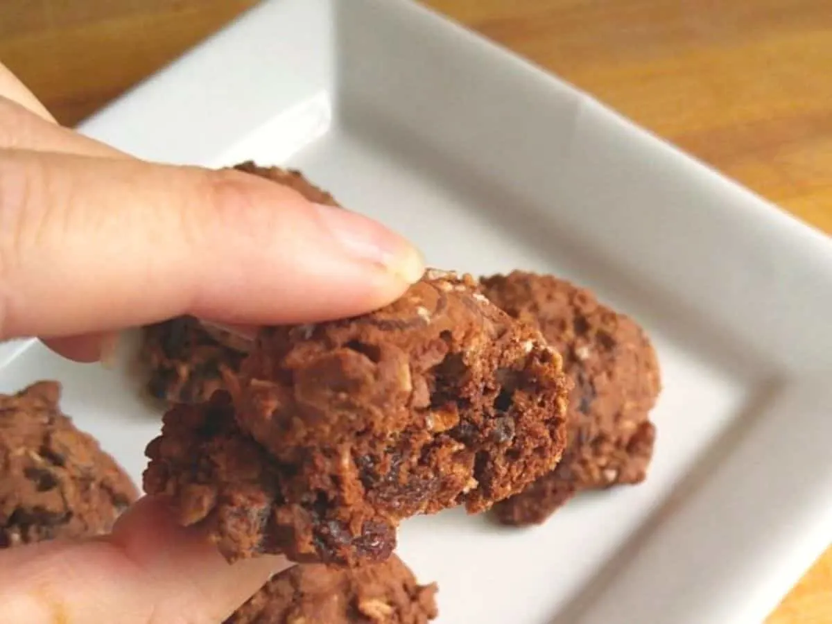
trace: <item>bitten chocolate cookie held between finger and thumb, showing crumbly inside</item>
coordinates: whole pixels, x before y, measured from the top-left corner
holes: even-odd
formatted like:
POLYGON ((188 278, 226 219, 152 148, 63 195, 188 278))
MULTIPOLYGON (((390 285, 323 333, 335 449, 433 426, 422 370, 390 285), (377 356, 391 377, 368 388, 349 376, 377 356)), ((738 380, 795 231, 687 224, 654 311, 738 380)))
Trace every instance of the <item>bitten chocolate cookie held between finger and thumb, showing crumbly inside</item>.
POLYGON ((431 270, 372 314, 262 330, 233 404, 166 415, 146 491, 230 561, 346 565, 387 559, 404 518, 518 493, 560 459, 567 379, 476 287, 431 270))

